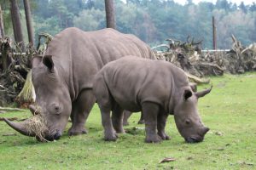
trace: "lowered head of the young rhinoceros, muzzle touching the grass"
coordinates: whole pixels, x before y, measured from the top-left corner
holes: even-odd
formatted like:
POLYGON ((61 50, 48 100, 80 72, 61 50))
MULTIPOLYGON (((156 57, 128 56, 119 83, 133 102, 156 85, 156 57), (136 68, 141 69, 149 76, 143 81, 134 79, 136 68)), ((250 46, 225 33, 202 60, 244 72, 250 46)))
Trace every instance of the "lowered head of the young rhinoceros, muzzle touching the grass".
POLYGON ((209 131, 209 128, 205 127, 201 121, 201 116, 197 110, 197 101, 199 98, 209 94, 211 89, 195 93, 189 87, 183 89, 183 95, 174 108, 177 130, 186 142, 201 142, 209 131))

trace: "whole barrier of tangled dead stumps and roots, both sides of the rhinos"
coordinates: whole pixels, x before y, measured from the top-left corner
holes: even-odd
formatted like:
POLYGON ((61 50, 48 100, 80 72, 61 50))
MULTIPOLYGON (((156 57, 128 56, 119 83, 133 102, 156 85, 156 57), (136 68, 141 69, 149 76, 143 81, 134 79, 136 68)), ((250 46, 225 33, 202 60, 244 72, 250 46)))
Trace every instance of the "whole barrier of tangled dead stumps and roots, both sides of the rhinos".
MULTIPOLYGON (((25 53, 22 53, 19 44, 12 45, 8 37, 0 39, 0 106, 14 101, 21 106, 33 102, 35 96, 30 74, 32 55, 44 54, 51 39, 49 34, 40 34, 37 49, 29 44, 25 53)), ((209 80, 202 77, 256 70, 256 43, 243 47, 236 37, 232 36, 232 40, 233 46, 229 50, 201 50, 202 41, 195 42, 190 37, 186 42, 168 39, 167 44, 153 49, 158 59, 182 68, 190 82, 207 83, 209 80)))

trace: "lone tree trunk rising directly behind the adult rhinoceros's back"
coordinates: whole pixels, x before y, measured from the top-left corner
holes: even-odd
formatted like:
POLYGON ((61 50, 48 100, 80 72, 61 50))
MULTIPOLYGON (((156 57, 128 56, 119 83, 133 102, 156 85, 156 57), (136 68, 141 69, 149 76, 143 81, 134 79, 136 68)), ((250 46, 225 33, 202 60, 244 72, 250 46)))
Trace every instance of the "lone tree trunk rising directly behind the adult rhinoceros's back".
POLYGON ((115 29, 113 0, 105 0, 107 28, 115 29))

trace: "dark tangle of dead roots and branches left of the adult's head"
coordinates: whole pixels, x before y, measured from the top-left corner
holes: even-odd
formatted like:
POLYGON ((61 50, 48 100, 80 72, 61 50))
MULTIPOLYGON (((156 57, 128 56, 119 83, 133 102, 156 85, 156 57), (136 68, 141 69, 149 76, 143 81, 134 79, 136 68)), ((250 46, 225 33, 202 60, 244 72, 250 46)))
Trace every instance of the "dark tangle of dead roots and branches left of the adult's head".
POLYGON ((0 105, 14 102, 30 70, 31 46, 22 53, 19 44, 12 45, 9 37, 0 39, 0 105))

